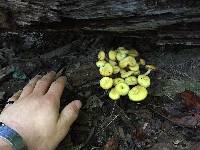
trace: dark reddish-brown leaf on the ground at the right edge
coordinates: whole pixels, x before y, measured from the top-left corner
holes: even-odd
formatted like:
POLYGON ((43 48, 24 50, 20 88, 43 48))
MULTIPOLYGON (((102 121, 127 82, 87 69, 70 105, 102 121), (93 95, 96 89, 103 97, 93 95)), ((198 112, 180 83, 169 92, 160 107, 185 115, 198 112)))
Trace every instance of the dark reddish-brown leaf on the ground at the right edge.
POLYGON ((200 98, 192 91, 184 91, 180 94, 182 102, 189 108, 200 110, 200 98))

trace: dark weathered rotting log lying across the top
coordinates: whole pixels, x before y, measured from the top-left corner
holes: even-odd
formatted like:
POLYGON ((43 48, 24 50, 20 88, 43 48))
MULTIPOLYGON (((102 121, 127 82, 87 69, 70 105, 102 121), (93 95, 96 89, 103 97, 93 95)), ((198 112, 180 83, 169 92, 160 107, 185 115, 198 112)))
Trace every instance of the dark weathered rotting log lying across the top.
POLYGON ((1 0, 0 28, 109 32, 157 45, 200 45, 200 1, 1 0))

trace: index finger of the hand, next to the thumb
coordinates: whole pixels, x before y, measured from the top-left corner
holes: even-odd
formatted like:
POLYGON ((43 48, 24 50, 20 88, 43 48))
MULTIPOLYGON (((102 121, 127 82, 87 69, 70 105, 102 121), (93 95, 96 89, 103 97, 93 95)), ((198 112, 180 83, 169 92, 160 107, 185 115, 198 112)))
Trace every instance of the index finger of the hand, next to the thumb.
POLYGON ((65 88, 67 78, 65 76, 59 77, 56 81, 54 81, 48 92, 47 95, 54 95, 57 100, 60 100, 63 90, 65 88))

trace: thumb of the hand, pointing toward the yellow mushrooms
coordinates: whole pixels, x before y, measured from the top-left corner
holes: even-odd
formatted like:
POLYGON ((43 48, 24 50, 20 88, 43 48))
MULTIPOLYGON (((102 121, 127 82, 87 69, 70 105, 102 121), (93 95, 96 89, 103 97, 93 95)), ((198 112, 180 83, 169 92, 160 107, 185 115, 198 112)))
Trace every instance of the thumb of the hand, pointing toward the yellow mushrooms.
POLYGON ((62 139, 68 133, 70 126, 77 119, 82 104, 79 100, 69 103, 60 113, 57 124, 58 138, 62 139))

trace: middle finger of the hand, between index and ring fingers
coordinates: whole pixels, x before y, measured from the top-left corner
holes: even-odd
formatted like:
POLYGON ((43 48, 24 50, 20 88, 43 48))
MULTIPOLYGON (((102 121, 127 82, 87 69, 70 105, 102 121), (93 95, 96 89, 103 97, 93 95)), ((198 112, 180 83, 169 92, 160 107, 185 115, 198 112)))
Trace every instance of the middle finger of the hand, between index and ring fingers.
POLYGON ((41 79, 39 79, 35 85, 33 94, 44 95, 49 89, 49 86, 51 85, 53 80, 55 79, 55 75, 56 73, 54 71, 51 71, 43 76, 41 79))

